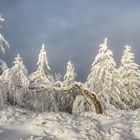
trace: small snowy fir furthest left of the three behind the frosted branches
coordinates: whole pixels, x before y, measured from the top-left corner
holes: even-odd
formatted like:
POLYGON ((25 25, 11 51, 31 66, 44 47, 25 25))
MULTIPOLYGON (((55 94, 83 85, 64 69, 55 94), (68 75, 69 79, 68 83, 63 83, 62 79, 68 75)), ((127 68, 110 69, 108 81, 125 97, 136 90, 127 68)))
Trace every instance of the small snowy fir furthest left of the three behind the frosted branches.
POLYGON ((14 58, 13 64, 12 68, 5 70, 0 76, 0 83, 11 104, 23 105, 29 86, 28 72, 19 54, 14 58))

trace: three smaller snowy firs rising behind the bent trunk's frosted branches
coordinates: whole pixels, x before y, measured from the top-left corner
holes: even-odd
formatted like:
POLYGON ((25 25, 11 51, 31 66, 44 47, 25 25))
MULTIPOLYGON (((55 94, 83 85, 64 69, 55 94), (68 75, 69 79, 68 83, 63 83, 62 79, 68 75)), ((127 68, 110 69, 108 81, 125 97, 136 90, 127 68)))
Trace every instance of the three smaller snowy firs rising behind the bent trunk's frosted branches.
MULTIPOLYGON (((6 64, 5 64, 6 65, 6 64)), ((29 86, 53 86, 54 84, 59 83, 59 86, 67 87, 72 85, 75 79, 74 64, 71 61, 67 63, 67 71, 64 76, 63 83, 60 82, 61 75, 55 74, 52 76, 49 73, 50 66, 48 65, 48 58, 45 51, 45 45, 42 45, 42 48, 39 53, 37 70, 30 75, 26 69, 22 58, 18 54, 13 61, 13 66, 11 68, 4 69, 2 75, 0 76, 0 81, 11 86, 18 86, 27 89, 29 86)))

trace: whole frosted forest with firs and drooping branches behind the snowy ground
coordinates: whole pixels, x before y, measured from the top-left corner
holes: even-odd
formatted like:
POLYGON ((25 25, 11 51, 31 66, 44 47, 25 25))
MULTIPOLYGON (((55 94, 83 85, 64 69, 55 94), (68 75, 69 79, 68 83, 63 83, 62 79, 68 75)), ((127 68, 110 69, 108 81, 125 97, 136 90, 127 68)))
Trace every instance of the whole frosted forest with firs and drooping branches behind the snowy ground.
MULTIPOLYGON (((3 21, 4 18, 0 15, 0 22, 3 21)), ((5 53, 6 47, 9 48, 9 44, 0 34, 0 51, 5 53)), ((81 91, 72 88, 77 83, 74 63, 68 61, 64 77, 60 74, 51 75, 45 44, 38 56, 37 69, 31 74, 19 54, 14 58, 11 68, 8 68, 4 60, 0 62, 1 108, 8 103, 37 111, 72 112, 73 104, 76 104, 74 102, 79 100, 77 96, 81 91)), ((87 81, 78 84, 88 89, 101 103, 128 110, 140 107, 139 81, 140 69, 135 63, 131 46, 125 46, 121 65, 117 68, 105 38, 99 45, 87 81)))

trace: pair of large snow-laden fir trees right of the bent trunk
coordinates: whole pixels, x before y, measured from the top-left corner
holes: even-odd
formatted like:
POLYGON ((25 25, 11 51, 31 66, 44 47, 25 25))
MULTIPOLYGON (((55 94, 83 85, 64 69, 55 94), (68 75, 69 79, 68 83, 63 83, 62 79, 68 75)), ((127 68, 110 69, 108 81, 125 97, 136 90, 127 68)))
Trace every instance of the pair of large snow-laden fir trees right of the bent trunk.
POLYGON ((121 65, 116 67, 107 39, 99 46, 99 53, 92 64, 86 86, 100 100, 122 109, 140 107, 140 69, 135 63, 131 46, 125 46, 121 65))

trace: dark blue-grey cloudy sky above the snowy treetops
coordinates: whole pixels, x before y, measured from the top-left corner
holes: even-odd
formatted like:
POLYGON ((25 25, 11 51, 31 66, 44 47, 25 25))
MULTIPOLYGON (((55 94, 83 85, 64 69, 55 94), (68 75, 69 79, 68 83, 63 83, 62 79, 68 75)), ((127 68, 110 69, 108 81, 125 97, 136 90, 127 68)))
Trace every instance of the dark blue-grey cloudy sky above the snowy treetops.
POLYGON ((85 81, 105 37, 118 64, 126 44, 140 64, 139 0, 0 0, 0 13, 6 18, 1 32, 11 46, 1 58, 9 66, 20 53, 29 72, 35 71, 47 43, 52 73, 64 74, 71 59, 77 80, 85 81))

